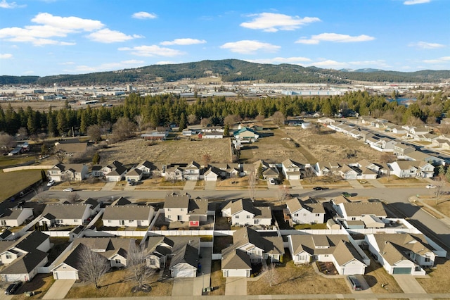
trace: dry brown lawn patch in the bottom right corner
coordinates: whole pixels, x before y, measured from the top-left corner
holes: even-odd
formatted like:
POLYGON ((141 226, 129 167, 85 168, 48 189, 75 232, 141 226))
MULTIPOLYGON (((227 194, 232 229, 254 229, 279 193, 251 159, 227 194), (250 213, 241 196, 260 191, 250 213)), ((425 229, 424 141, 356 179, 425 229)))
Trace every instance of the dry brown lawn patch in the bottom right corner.
POLYGON ((446 258, 436 258, 437 268, 430 270, 430 278, 417 278, 417 281, 427 293, 448 293, 450 287, 450 261, 446 258))

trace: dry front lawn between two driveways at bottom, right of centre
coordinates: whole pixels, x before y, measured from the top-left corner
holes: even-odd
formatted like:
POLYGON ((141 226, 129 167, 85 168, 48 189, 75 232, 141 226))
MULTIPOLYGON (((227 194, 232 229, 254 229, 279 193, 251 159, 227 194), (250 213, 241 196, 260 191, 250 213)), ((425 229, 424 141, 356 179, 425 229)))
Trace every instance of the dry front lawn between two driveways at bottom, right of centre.
POLYGON ((344 278, 325 278, 315 273, 311 265, 294 265, 289 255, 285 263, 276 267, 276 280, 269 286, 264 274, 258 280, 247 282, 249 295, 264 294, 348 294, 344 278))

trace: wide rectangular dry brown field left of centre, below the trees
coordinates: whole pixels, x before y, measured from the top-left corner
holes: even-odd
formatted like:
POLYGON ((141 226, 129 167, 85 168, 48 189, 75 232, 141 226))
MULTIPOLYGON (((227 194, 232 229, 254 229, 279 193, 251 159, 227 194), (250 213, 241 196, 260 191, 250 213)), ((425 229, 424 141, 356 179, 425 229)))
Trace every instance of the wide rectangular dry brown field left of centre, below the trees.
POLYGON ((138 164, 142 161, 152 163, 188 163, 189 161, 202 162, 204 154, 210 154, 210 163, 231 162, 230 139, 199 139, 199 140, 168 140, 150 142, 136 137, 128 141, 110 144, 108 148, 100 151, 101 163, 110 163, 114 160, 125 165, 138 164))

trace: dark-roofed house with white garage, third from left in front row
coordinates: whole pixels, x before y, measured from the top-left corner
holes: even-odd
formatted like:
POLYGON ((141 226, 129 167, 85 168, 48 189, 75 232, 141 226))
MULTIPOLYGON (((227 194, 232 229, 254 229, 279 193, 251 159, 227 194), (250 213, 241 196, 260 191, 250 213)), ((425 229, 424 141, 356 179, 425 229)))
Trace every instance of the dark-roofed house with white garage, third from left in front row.
POLYGON ((151 267, 167 267, 172 277, 197 276, 200 237, 148 237, 144 245, 151 267))

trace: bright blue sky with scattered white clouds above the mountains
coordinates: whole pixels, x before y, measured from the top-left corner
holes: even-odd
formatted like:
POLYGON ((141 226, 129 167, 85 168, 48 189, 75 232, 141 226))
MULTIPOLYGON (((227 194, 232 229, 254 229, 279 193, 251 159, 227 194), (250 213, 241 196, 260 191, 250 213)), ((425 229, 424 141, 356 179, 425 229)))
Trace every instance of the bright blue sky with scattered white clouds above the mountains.
POLYGON ((0 0, 0 75, 236 58, 450 70, 449 0, 0 0))

